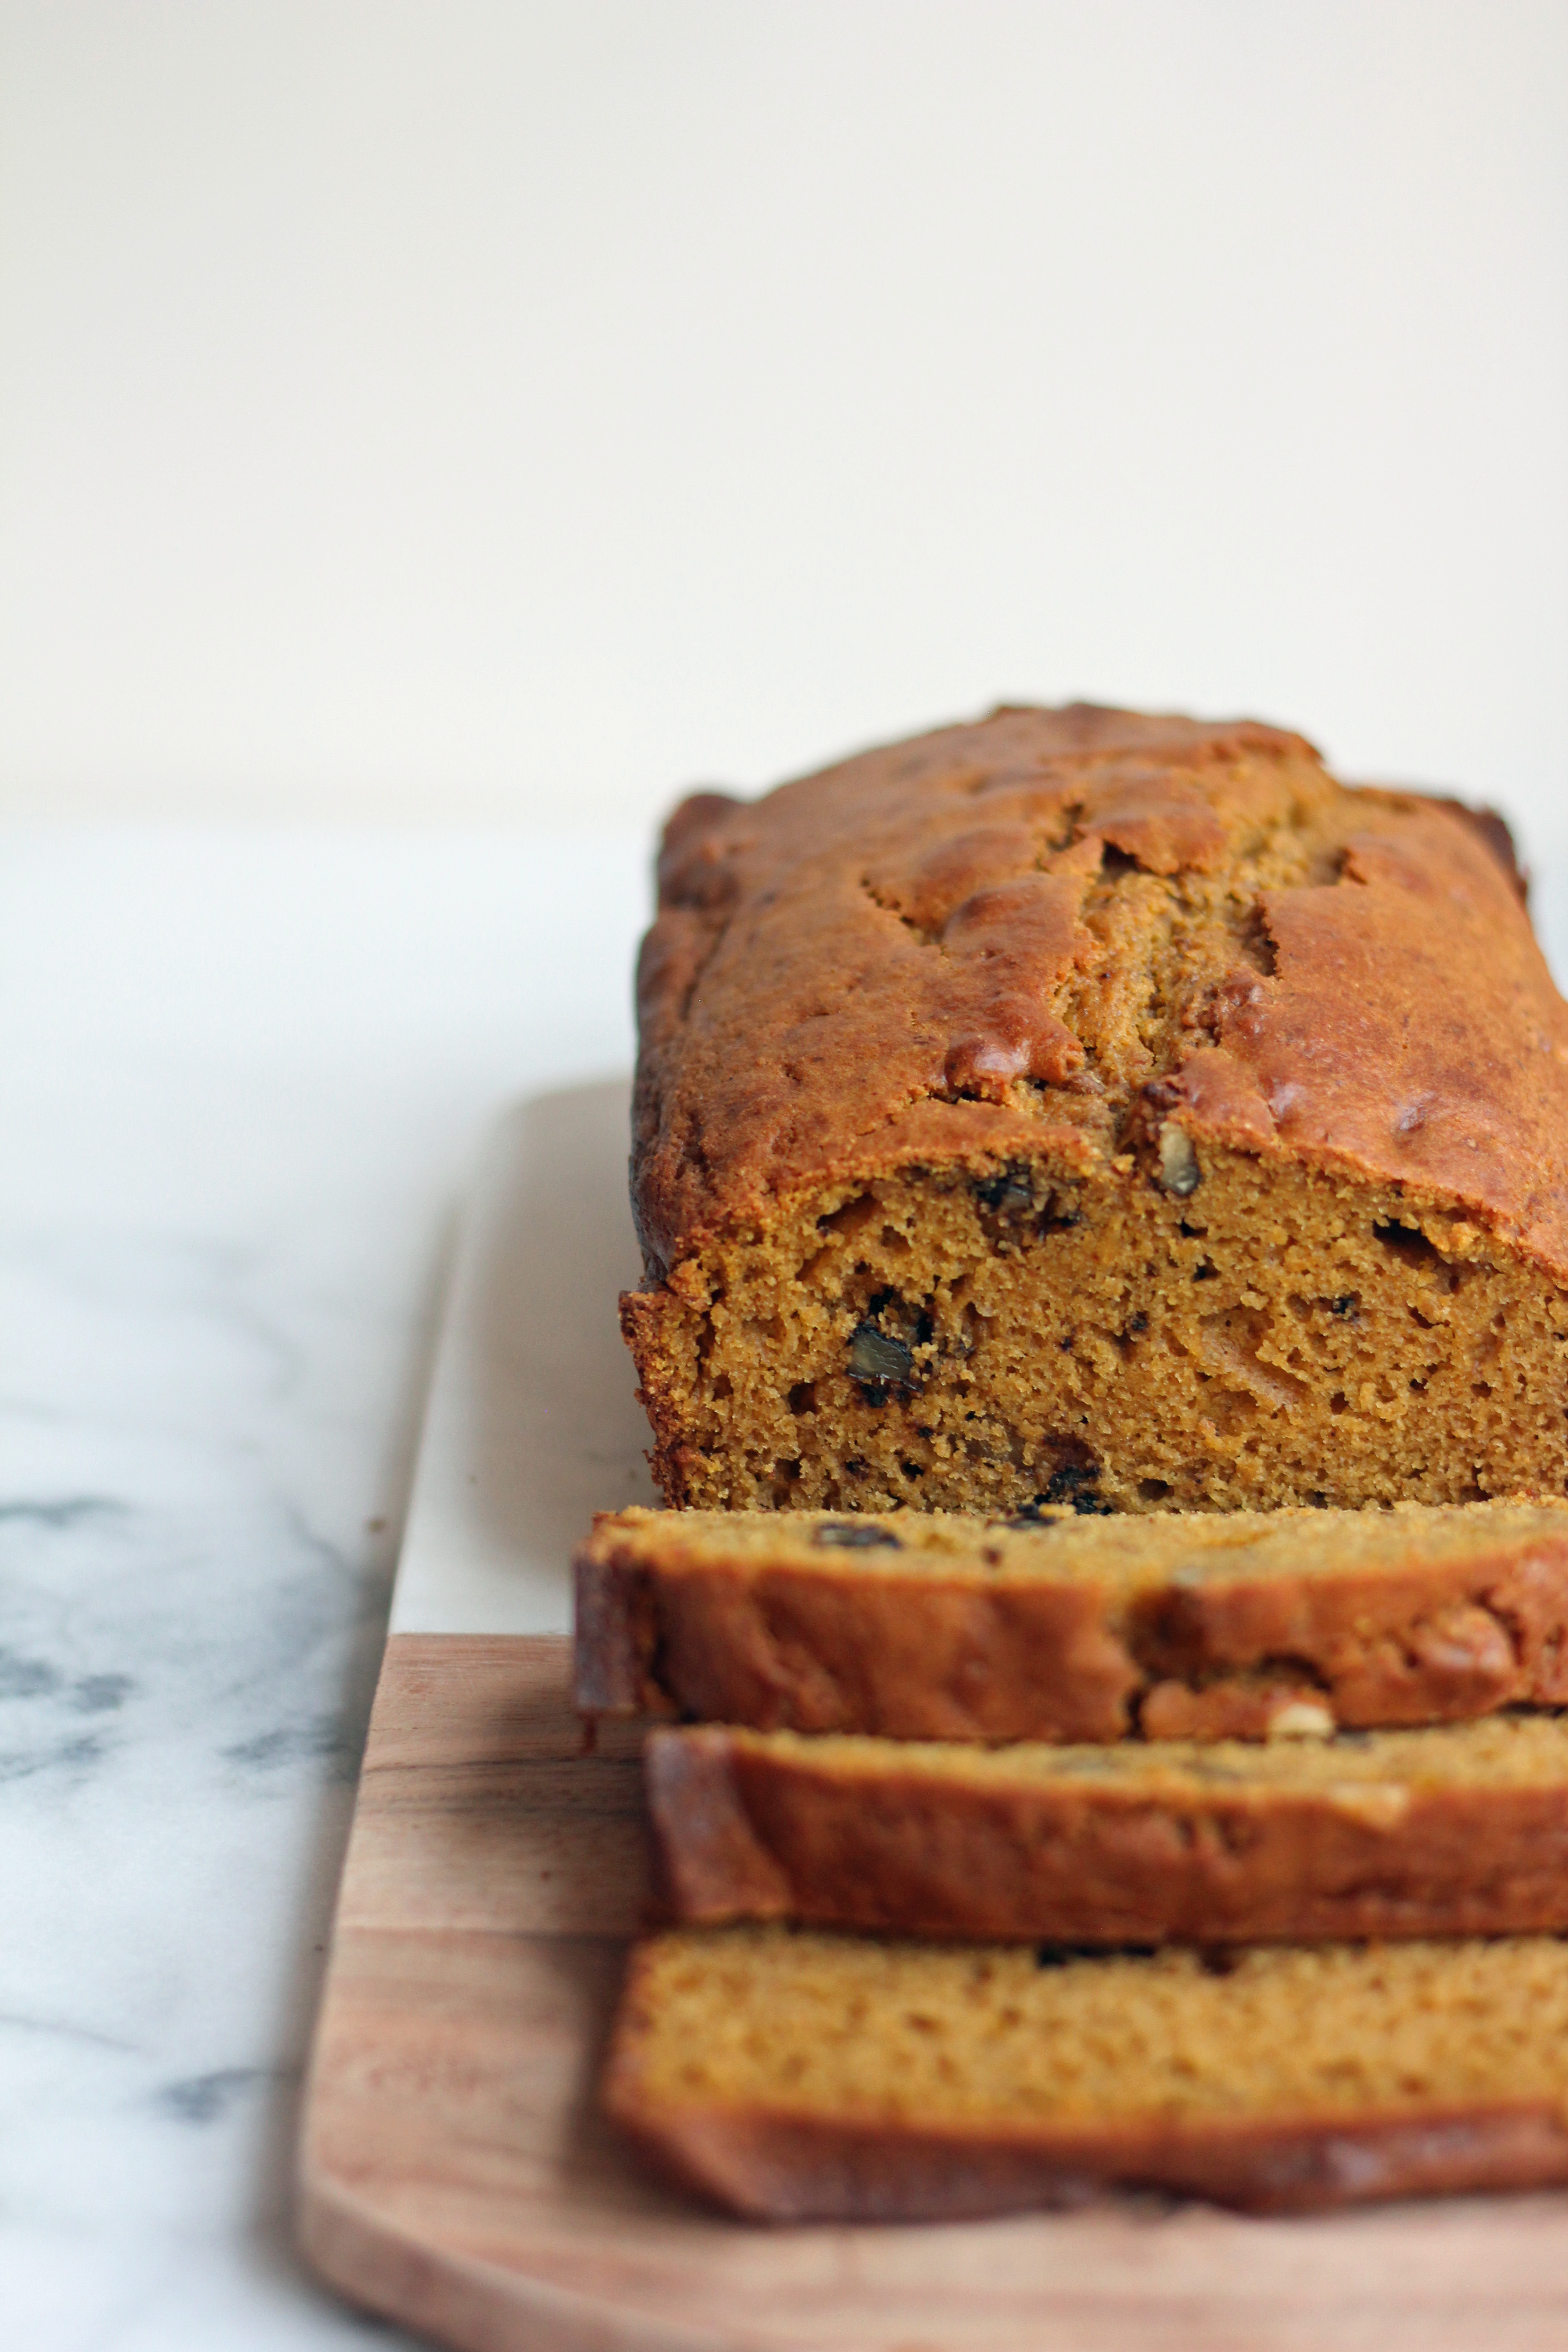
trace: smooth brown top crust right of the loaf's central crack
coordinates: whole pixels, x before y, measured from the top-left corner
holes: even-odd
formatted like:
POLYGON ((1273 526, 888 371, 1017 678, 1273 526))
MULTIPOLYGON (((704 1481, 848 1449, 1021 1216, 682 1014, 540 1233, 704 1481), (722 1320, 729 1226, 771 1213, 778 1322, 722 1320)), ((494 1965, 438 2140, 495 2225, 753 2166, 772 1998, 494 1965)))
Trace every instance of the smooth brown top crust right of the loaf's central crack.
POLYGON ((1269 891, 1276 969, 1154 1082, 1194 1138, 1446 1197, 1568 1272, 1568 1030, 1521 901, 1443 802, 1366 795, 1338 887, 1269 891))

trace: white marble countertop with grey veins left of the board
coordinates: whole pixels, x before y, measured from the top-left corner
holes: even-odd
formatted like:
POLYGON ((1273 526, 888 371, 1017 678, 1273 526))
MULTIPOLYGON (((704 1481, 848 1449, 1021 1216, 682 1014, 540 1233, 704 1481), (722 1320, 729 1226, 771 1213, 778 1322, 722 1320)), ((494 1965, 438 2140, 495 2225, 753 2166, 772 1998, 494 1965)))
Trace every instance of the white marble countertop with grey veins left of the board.
POLYGON ((301 2067, 454 1207, 630 1061, 646 844, 2 837, 5 2340, 390 2343, 289 2246, 301 2067))

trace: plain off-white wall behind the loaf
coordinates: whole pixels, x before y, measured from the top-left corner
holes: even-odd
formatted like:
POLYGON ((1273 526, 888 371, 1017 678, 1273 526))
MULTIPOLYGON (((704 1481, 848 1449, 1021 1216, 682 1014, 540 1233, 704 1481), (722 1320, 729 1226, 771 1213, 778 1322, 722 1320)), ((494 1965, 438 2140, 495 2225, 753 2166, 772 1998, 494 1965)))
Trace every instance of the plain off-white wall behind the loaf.
POLYGON ((1561 0, 0 0, 0 336, 14 809, 1088 694, 1559 828, 1561 0))

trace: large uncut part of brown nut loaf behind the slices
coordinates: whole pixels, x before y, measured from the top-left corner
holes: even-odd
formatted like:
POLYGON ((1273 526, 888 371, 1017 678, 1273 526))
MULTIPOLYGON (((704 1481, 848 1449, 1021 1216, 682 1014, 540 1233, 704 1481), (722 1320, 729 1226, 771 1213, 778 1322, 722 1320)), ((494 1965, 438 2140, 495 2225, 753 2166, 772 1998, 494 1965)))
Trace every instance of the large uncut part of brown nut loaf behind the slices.
POLYGON ((999 710, 670 821, 623 1301, 665 1498, 1568 1482, 1568 1009, 1495 818, 999 710))

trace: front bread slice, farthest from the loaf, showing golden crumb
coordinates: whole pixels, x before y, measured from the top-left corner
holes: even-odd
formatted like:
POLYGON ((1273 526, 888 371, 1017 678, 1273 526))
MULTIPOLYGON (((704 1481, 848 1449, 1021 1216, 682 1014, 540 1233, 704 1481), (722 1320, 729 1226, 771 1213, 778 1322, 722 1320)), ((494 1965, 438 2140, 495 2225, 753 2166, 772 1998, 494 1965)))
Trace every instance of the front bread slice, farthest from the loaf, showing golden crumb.
POLYGON ((609 2112, 764 2220, 926 2220, 1140 2183, 1258 2211, 1568 2180, 1549 1936, 1044 1964, 780 1926, 639 1945, 609 2112))

